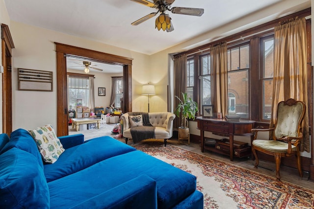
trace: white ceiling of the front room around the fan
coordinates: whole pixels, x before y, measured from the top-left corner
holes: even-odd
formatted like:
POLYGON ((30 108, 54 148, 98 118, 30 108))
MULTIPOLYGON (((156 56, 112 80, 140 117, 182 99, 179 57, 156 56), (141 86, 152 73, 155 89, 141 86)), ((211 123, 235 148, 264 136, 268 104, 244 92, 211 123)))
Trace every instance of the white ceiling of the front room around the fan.
MULTIPOLYGON (((151 0, 153 1, 153 0, 151 0)), ((247 28, 284 15, 288 6, 296 12, 311 0, 176 0, 172 6, 204 8, 201 17, 172 14, 174 31, 155 29, 152 18, 137 26, 131 23, 156 12, 131 0, 4 0, 12 21, 35 25, 145 54, 154 54, 193 37, 265 11, 268 17, 252 20, 247 28), (281 9, 278 4, 285 3, 281 9), (276 11, 272 9, 276 6, 276 11), (263 10, 264 9, 264 10, 263 10)), ((243 26, 243 25, 241 25, 243 26)), ((240 26, 238 27, 240 28, 240 26)), ((235 31, 233 31, 235 32, 235 31)), ((205 39, 204 39, 205 40, 205 39)))

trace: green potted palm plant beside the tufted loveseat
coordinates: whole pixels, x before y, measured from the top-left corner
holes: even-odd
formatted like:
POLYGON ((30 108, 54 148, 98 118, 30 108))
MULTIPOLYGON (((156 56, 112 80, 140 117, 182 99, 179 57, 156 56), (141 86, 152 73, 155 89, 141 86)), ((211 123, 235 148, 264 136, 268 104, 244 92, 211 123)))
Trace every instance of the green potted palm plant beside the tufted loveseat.
POLYGON ((175 114, 181 118, 181 126, 179 127, 179 138, 188 138, 189 128, 187 119, 194 119, 198 111, 197 103, 192 98, 187 97, 187 93, 182 93, 182 100, 179 99, 179 104, 175 110, 175 114))

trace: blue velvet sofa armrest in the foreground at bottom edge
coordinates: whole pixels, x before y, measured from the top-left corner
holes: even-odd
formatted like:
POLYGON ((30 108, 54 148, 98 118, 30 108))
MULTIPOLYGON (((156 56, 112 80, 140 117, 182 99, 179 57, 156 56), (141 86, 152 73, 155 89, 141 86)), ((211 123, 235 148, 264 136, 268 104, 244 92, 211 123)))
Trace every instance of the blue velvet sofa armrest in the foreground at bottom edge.
POLYGON ((157 209, 157 183, 143 174, 71 209, 157 209))

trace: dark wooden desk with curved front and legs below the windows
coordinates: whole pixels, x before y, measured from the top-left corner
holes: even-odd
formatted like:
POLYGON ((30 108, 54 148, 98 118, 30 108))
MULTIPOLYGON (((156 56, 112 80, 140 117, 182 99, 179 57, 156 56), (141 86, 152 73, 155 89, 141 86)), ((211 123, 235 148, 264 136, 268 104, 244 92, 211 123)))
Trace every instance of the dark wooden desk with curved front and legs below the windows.
MULTIPOLYGON (((226 121, 225 119, 196 117, 197 128, 201 131, 201 151, 204 152, 204 132, 212 132, 229 136, 230 140, 230 161, 234 161, 234 136, 251 136, 251 129, 254 126, 253 120, 226 121)), ((251 139, 252 141, 252 139, 251 139)))

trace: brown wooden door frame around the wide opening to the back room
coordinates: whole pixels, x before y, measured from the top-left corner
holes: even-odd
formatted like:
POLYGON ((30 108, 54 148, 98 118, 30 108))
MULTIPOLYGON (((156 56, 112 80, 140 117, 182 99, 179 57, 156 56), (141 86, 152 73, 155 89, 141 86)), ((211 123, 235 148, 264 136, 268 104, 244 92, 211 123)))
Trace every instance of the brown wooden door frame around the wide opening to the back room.
POLYGON ((123 66, 124 110, 132 111, 132 59, 90 49, 54 43, 56 46, 57 74, 57 136, 68 135, 67 66, 66 57, 78 57, 123 66))

